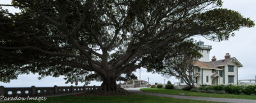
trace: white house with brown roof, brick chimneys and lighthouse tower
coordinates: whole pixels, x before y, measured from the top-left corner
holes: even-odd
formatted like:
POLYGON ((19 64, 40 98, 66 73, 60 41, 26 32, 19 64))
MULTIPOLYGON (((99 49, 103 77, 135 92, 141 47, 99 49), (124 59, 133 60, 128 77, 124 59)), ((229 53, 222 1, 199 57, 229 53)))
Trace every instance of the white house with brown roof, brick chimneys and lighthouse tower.
MULTIPOLYGON (((224 59, 217 60, 213 56, 209 61, 211 45, 204 45, 202 41, 199 41, 198 45, 203 57, 194 64, 193 78, 196 84, 238 84, 237 69, 243 65, 235 57, 231 58, 230 54, 226 53, 224 59)), ((180 85, 186 85, 183 79, 180 79, 180 85)))

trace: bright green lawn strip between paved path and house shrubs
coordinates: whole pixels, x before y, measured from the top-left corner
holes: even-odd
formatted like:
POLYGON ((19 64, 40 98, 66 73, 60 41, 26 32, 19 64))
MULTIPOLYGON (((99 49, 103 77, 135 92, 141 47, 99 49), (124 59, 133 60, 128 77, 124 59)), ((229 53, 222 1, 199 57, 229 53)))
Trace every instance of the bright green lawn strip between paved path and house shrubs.
POLYGON ((152 92, 152 93, 164 93, 171 95, 179 95, 179 93, 184 93, 188 96, 196 97, 216 97, 216 98, 228 98, 228 99, 254 99, 256 100, 256 95, 235 95, 235 94, 220 94, 220 93, 203 93, 203 92, 193 92, 185 90, 168 90, 164 88, 142 88, 141 91, 152 92))

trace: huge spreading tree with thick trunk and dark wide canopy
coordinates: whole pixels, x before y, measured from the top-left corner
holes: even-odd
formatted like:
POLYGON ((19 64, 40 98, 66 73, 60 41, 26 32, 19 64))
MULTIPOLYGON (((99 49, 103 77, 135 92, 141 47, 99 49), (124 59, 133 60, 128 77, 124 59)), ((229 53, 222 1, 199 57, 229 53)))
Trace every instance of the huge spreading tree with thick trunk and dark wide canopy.
POLYGON ((19 74, 64 75, 68 82, 116 79, 160 69, 164 55, 191 36, 226 40, 254 23, 221 0, 13 0, 0 11, 0 81, 19 74), (218 7, 218 8, 216 8, 218 7), (168 49, 168 50, 166 50, 168 49))

